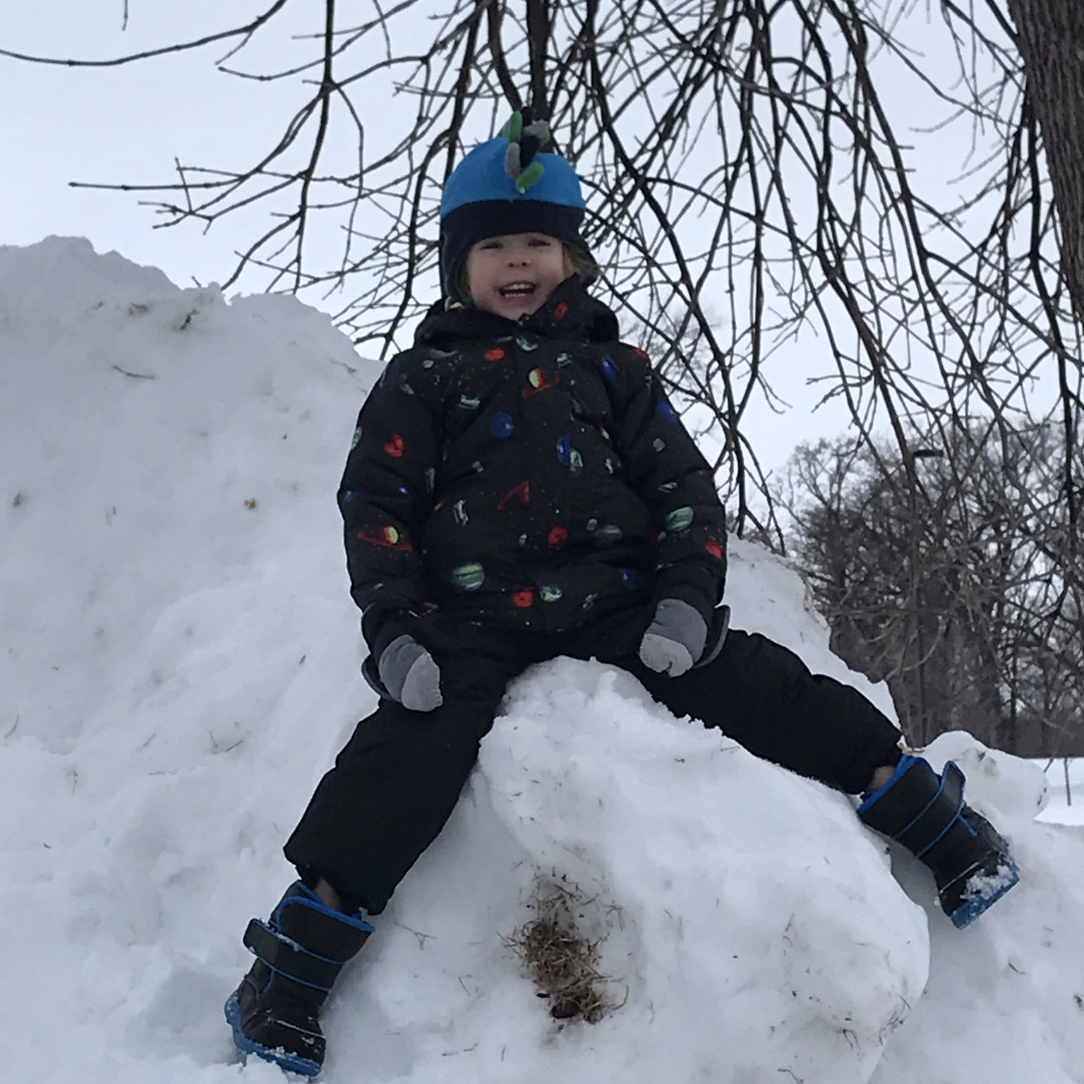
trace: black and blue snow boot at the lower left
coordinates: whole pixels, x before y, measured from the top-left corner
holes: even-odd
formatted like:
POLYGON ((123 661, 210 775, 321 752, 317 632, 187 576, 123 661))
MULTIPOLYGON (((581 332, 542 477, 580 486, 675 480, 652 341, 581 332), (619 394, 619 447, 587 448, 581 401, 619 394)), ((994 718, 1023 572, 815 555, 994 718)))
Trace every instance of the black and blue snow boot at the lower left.
POLYGON ((254 918, 245 930, 257 959, 225 1003, 237 1049, 315 1076, 324 1063, 320 1008, 372 932, 360 915, 328 907, 301 881, 291 885, 271 918, 254 918))

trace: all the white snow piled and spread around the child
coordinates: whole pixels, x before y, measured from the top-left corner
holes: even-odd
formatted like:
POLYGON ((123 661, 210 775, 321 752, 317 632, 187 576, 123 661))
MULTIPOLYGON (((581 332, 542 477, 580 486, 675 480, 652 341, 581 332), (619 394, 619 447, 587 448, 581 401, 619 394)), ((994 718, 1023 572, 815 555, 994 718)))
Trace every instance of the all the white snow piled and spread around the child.
MULTIPOLYGON (((0 248, 5 1079, 282 1081, 234 1058, 221 1003, 372 705, 334 490, 377 372, 291 299, 0 248)), ((891 710, 791 571, 741 543, 732 567, 735 624, 891 710)), ((929 754, 1023 870, 963 931, 848 799, 611 668, 525 675, 328 1006, 324 1079, 1084 1082, 1084 829, 1034 820, 1041 766, 962 734, 929 754), (597 1024, 553 1021, 505 946, 540 879, 578 885, 605 938, 597 1024)))

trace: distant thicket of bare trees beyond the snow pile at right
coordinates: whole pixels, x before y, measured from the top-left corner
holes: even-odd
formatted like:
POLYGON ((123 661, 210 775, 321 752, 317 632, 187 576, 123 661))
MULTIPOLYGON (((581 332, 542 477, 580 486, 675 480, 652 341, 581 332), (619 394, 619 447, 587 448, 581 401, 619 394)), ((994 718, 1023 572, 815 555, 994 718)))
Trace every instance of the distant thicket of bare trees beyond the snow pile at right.
POLYGON ((1079 571, 1048 516, 1056 428, 988 443, 978 460, 912 440, 915 490, 887 446, 888 473, 855 440, 803 446, 791 462, 780 499, 834 649, 888 682, 916 745, 967 730, 1025 756, 1084 754, 1084 640, 1067 602, 1079 571))

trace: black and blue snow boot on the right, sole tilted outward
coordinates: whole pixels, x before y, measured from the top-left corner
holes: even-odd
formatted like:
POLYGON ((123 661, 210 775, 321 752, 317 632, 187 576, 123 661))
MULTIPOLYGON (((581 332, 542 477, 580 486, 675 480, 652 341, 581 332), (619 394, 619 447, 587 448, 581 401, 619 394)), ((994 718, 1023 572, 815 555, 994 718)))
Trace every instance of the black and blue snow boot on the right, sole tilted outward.
POLYGON ((904 756, 885 786, 862 796, 859 816, 933 870, 953 926, 973 921, 1020 880, 1008 843, 964 804, 964 773, 952 761, 939 776, 922 758, 904 756))

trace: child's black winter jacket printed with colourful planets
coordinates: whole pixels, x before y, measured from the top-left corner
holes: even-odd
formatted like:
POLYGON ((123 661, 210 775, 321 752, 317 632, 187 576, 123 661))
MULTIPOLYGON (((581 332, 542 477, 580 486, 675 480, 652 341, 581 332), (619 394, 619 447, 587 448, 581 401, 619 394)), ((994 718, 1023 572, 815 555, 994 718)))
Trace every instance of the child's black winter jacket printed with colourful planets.
POLYGON ((516 322, 434 307, 361 409, 338 501, 375 653, 403 610, 559 632, 676 597, 711 628, 722 597, 711 470, 576 276, 516 322))

